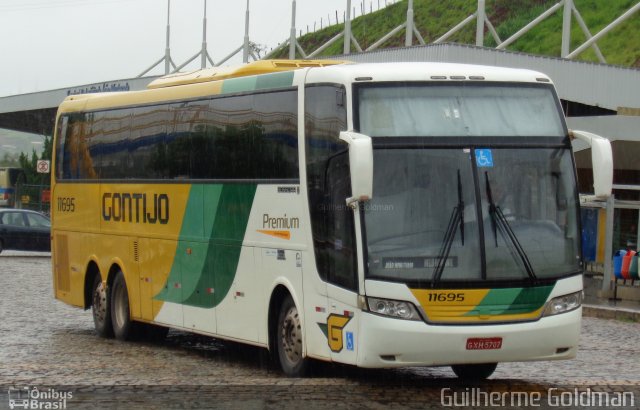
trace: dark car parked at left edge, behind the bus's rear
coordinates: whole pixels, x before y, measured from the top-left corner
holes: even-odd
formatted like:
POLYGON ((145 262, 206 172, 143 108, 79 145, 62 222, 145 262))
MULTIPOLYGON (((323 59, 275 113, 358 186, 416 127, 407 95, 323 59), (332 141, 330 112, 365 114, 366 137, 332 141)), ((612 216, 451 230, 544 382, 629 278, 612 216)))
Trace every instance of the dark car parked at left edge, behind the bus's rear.
POLYGON ((0 209, 0 252, 51 250, 51 221, 25 209, 0 209))

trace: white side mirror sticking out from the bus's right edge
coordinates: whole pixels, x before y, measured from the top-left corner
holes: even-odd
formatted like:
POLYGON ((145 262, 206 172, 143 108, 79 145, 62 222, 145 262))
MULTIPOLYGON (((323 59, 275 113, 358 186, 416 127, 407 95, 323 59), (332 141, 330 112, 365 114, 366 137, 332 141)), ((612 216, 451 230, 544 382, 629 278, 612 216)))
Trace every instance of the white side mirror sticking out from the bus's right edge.
POLYGON ((586 131, 570 130, 569 136, 585 142, 591 147, 593 164, 593 188, 597 198, 611 196, 613 188, 613 153, 611 142, 599 135, 586 131))

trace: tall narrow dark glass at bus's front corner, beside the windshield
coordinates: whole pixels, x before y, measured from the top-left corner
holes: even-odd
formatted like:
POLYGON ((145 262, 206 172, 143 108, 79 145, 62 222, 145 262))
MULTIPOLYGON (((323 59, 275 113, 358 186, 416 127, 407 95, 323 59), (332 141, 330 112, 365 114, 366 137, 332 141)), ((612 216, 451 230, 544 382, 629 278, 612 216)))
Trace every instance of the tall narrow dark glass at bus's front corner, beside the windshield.
POLYGON ((305 137, 311 227, 320 276, 348 289, 357 288, 353 211, 347 145, 338 139, 347 129, 342 87, 307 87, 305 137))

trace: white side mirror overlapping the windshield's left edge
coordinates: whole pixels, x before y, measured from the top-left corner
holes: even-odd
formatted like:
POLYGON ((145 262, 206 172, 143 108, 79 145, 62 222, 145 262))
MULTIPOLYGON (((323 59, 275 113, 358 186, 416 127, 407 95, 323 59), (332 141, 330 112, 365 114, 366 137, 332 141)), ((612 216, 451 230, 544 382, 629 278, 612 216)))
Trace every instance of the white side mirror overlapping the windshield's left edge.
POLYGON ((340 132, 340 139, 349 144, 351 197, 347 205, 367 201, 373 195, 373 142, 371 137, 352 131, 340 132))

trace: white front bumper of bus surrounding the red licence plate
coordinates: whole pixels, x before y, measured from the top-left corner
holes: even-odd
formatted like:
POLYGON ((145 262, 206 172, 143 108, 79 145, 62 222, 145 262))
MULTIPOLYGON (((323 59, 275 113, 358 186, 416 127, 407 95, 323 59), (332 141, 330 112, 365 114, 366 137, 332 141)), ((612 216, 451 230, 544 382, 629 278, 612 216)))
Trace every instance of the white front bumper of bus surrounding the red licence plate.
POLYGON ((357 338, 360 367, 437 366, 574 358, 582 308, 534 322, 429 325, 363 312, 357 338), (501 347, 469 350, 470 338, 501 338, 501 347))

